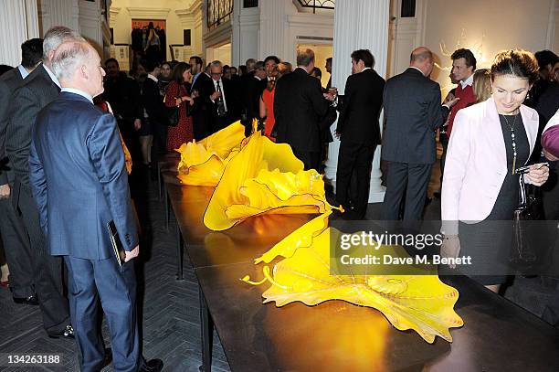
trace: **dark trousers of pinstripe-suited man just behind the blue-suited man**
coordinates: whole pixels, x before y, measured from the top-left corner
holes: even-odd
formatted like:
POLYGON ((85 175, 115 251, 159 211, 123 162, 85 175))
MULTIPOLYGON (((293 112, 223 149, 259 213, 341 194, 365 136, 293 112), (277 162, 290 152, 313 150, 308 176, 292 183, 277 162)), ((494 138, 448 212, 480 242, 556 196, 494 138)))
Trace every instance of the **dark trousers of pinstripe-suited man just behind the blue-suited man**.
POLYGON ((48 254, 37 204, 28 187, 19 186, 17 205, 29 235, 35 291, 43 316, 43 326, 48 334, 59 334, 69 324, 68 300, 63 295, 62 260, 48 254))

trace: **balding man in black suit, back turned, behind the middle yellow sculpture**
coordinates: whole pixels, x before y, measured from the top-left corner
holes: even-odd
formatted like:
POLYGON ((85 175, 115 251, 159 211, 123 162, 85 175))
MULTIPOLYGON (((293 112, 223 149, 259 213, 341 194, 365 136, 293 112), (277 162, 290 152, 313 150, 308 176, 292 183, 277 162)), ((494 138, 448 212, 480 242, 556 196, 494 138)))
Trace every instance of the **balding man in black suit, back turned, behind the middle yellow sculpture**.
POLYGON ((297 69, 276 84, 274 116, 277 143, 289 143, 305 170, 319 171, 321 163, 321 118, 329 103, 322 95, 321 82, 309 75, 314 68, 311 49, 297 51, 297 69))

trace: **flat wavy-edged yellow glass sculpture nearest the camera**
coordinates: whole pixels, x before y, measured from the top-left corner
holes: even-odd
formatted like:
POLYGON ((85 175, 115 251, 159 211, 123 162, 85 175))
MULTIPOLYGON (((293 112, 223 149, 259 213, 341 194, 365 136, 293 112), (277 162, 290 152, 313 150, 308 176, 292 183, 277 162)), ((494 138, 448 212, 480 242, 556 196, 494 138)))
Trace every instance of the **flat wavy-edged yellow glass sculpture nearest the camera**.
MULTIPOLYGON (((311 245, 299 247, 290 258, 277 263, 273 277, 265 266, 261 282, 251 282, 248 276, 242 280, 255 285, 272 284, 262 294, 264 303, 283 306, 301 301, 315 305, 343 300, 374 307, 396 329, 413 329, 428 343, 433 343, 436 335, 452 341, 448 328, 463 324, 453 309, 459 298, 456 289, 440 282, 437 275, 331 275, 331 233, 334 237, 340 233, 332 230, 322 230, 311 245)), ((382 246, 380 250, 382 254, 400 255, 394 246, 382 246)), ((267 260, 270 258, 273 259, 270 255, 267 260)))

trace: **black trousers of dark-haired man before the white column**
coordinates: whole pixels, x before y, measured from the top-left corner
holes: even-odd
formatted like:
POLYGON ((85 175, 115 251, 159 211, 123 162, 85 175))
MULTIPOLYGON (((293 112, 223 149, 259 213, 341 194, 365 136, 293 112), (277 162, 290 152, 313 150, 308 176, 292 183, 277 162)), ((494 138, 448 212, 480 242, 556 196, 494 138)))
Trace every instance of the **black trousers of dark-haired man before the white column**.
POLYGON ((376 145, 371 144, 347 141, 340 143, 336 171, 336 200, 343 207, 349 207, 351 203, 357 218, 364 218, 367 210, 375 148, 376 145), (351 195, 350 192, 352 180, 356 182, 355 195, 351 195))

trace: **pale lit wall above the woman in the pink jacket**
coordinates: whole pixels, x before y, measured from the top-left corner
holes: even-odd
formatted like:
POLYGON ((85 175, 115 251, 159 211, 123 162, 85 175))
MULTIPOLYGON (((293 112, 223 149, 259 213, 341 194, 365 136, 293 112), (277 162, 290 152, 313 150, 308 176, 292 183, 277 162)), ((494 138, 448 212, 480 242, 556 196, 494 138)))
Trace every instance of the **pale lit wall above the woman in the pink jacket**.
MULTIPOLYGON (((534 52, 552 48, 546 46, 546 40, 553 42, 554 38, 547 35, 553 2, 538 0, 536 5, 525 0, 469 0, 466 6, 459 0, 428 0, 424 42, 440 58, 443 68, 452 65, 446 55, 456 48, 471 49, 481 68, 490 67, 501 49, 524 48, 534 52), (446 51, 441 50, 441 44, 446 51)), ((441 87, 448 86, 448 70, 435 69, 433 76, 441 87)))

